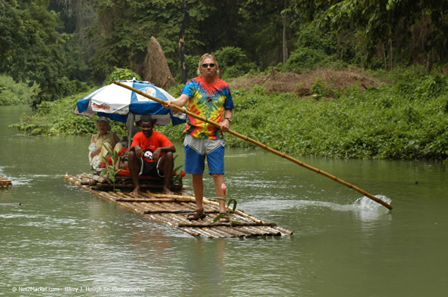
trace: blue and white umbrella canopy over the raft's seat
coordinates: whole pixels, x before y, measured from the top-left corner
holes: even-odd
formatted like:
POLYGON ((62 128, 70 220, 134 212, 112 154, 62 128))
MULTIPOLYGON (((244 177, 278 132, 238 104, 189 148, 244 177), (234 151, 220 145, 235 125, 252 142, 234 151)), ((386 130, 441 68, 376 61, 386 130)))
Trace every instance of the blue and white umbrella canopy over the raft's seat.
MULTIPOLYGON (((167 91, 156 87, 152 83, 138 80, 121 80, 121 83, 165 101, 174 100, 174 97, 167 91)), ((97 113, 99 116, 106 116, 120 122, 126 122, 130 113, 133 115, 154 115, 153 118, 157 119, 157 124, 159 125, 168 124, 170 118, 173 124, 185 122, 181 118, 183 114, 177 113, 173 116, 171 110, 165 109, 159 102, 136 94, 114 83, 101 87, 79 100, 74 113, 88 115, 91 118, 97 113)))

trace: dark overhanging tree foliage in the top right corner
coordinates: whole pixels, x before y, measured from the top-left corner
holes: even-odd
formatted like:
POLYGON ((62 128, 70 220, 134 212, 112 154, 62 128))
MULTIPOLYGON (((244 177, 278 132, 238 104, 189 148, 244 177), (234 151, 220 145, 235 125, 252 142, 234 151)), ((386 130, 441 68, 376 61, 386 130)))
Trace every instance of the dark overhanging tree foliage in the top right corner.
POLYGON ((430 70, 436 60, 446 58, 445 1, 327 2, 331 4, 316 18, 318 24, 338 34, 338 41, 355 45, 363 67, 392 69, 425 61, 430 70))

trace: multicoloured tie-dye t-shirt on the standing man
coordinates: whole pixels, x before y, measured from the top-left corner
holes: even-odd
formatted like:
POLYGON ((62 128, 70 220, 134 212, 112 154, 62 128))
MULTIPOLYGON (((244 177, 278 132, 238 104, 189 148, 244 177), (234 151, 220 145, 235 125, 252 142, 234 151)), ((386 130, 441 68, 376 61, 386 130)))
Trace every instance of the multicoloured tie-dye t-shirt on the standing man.
MULTIPOLYGON (((181 94, 190 97, 188 111, 213 122, 223 121, 224 111, 234 108, 229 84, 220 78, 216 78, 214 83, 207 83, 202 76, 193 78, 183 87, 181 94)), ((219 128, 190 115, 187 116, 184 132, 196 138, 220 139, 223 137, 219 128)))

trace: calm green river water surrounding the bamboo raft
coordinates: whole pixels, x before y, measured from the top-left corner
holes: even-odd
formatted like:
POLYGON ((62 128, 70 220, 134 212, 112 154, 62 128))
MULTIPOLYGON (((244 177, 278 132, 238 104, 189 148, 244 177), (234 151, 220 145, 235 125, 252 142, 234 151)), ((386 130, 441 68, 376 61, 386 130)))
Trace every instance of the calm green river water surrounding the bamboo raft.
MULTIPOLYGON (((24 111, 0 107, 0 175, 13 181, 0 189, 0 296, 448 294, 448 174, 441 162, 298 157, 390 199, 389 212, 271 153, 227 148, 227 196, 294 234, 203 239, 65 181, 65 173, 88 172, 89 137, 8 129, 24 111)), ((176 148, 181 162, 181 144, 176 148)), ((188 175, 184 184, 191 190, 188 175)), ((214 196, 210 177, 205 195, 214 196)))

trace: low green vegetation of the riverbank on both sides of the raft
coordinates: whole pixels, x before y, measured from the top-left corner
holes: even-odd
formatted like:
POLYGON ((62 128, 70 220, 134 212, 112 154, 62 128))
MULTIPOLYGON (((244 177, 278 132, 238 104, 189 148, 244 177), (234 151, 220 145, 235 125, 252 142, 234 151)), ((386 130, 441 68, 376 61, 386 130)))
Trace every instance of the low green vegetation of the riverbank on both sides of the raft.
MULTIPOLYGON (((447 159, 447 75, 401 69, 387 73, 387 83, 374 81, 338 88, 318 77, 307 96, 272 91, 263 84, 250 89, 242 85, 232 89, 236 107, 231 129, 293 155, 447 159)), ((176 96, 179 89, 170 92, 176 96)), ((35 115, 14 126, 32 135, 94 133, 90 118, 73 113, 75 102, 84 95, 43 102, 35 115)), ((181 141, 182 128, 162 126, 159 131, 181 141)), ((113 129, 125 135, 121 123, 113 129)), ((226 137, 226 144, 252 147, 232 136, 226 137)))

